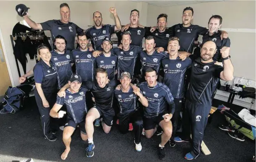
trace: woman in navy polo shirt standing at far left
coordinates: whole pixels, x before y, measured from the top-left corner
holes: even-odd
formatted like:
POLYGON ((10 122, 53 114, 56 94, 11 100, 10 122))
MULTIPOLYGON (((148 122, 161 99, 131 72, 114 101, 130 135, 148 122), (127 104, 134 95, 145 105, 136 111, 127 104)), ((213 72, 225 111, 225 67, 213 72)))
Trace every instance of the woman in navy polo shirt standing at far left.
POLYGON ((56 102, 57 88, 60 86, 60 82, 57 68, 55 64, 50 62, 51 57, 52 55, 47 46, 39 46, 37 49, 37 59, 39 62, 35 65, 33 72, 36 83, 34 93, 41 115, 44 138, 49 141, 55 141, 57 137, 53 133, 55 130, 58 130, 58 126, 56 121, 52 121, 53 118, 50 117, 50 110, 56 102))

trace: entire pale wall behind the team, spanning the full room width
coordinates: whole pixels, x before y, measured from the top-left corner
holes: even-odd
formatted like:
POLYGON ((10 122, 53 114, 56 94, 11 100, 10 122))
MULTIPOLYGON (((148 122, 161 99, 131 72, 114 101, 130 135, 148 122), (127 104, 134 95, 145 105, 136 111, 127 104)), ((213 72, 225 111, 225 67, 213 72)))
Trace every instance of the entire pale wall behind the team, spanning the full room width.
MULTIPOLYGON (((6 48, 7 57, 5 58, 10 63, 15 85, 19 85, 18 71, 9 35, 12 33, 13 26, 23 20, 17 15, 15 6, 19 3, 27 5, 30 8, 30 18, 36 23, 41 23, 50 19, 59 19, 59 5, 64 2, 68 3, 71 8, 71 22, 84 29, 88 28, 88 25, 93 25, 92 13, 96 10, 102 13, 104 24, 115 24, 114 18, 109 12, 110 7, 116 8, 122 25, 130 22, 131 10, 137 9, 140 11, 139 23, 144 26, 155 26, 160 13, 168 15, 168 26, 172 26, 182 22, 183 9, 188 6, 194 9, 193 24, 206 27, 209 18, 213 14, 219 14, 223 18, 222 28, 255 29, 255 1, 224 1, 165 8, 136 1, 97 1, 93 3, 85 1, 0 1, 0 10, 3 13, 0 19, 0 28, 6 48)), ((255 33, 229 32, 229 37, 235 76, 255 80, 255 33)), ((34 62, 30 62, 27 66, 32 67, 33 65, 34 62)), ((21 75, 23 75, 22 69, 21 75)))

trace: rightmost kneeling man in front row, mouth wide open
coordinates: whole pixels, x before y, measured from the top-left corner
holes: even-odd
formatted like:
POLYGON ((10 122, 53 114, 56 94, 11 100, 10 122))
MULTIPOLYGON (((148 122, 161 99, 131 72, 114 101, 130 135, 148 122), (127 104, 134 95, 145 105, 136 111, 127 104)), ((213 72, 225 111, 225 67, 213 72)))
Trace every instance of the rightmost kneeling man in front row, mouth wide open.
POLYGON ((151 67, 145 72, 146 82, 138 85, 142 94, 148 100, 148 106, 144 107, 144 129, 146 138, 151 138, 156 131, 155 126, 158 124, 163 129, 161 135, 161 143, 158 147, 159 159, 165 159, 165 144, 172 136, 172 118, 175 112, 175 104, 173 102, 170 89, 157 82, 157 71, 151 67))

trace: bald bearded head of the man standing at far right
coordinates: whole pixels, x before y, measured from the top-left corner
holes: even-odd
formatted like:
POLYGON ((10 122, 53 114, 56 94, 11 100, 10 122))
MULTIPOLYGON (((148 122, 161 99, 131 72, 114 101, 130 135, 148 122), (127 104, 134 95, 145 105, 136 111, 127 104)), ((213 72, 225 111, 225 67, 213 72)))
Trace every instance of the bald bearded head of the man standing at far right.
POLYGON ((206 41, 201 48, 201 58, 204 61, 212 59, 216 53, 217 46, 214 41, 206 41))

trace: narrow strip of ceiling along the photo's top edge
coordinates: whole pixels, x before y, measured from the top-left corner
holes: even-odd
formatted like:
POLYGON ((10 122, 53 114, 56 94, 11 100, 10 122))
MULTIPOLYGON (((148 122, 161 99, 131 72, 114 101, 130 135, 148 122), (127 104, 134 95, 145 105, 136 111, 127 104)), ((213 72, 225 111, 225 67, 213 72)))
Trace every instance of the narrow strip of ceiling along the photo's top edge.
POLYGON ((155 5, 159 7, 168 7, 175 5, 191 5, 196 3, 207 3, 207 2, 217 2, 224 0, 133 0, 149 3, 149 5, 155 5))

